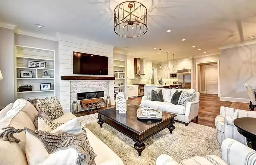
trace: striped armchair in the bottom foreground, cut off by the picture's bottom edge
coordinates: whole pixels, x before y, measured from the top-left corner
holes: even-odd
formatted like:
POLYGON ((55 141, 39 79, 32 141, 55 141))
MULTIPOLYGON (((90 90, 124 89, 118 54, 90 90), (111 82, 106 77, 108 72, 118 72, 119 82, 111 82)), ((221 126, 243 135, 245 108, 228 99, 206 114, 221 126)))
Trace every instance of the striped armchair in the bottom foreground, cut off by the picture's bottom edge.
POLYGON ((221 152, 222 158, 215 155, 196 156, 181 162, 161 154, 156 160, 156 165, 255 165, 256 151, 234 139, 223 140, 221 152))

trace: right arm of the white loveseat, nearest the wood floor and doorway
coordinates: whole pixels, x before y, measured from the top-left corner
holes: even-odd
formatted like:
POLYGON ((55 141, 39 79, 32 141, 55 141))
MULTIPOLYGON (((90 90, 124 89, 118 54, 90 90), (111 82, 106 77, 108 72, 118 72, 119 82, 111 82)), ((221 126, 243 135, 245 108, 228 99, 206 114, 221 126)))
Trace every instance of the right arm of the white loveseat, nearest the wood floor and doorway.
POLYGON ((195 117, 198 116, 198 109, 199 109, 199 100, 187 102, 186 110, 185 110, 186 123, 189 123, 189 121, 193 120, 195 117))

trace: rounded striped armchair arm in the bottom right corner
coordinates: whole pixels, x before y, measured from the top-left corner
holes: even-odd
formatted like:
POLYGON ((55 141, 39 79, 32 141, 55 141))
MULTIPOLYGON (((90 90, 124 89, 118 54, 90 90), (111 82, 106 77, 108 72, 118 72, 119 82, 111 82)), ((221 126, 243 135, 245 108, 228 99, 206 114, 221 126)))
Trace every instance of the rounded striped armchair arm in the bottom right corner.
POLYGON ((255 165, 256 151, 234 139, 225 139, 221 144, 222 159, 229 165, 255 165))

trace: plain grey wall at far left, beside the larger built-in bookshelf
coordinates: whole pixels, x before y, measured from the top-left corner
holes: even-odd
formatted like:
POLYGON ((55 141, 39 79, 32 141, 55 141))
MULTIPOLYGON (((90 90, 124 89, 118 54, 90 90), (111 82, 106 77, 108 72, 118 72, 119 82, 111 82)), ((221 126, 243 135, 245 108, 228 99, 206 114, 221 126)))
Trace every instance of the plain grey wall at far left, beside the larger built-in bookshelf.
POLYGON ((14 102, 14 31, 0 27, 0 109, 14 102))

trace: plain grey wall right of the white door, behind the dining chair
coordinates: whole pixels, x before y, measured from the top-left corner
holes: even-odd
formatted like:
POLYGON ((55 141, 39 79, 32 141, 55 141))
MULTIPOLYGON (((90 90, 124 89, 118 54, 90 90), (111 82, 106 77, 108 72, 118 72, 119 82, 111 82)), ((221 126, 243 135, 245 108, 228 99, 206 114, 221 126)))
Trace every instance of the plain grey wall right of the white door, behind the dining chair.
POLYGON ((220 99, 249 102, 244 83, 256 88, 256 41, 220 50, 220 99))

